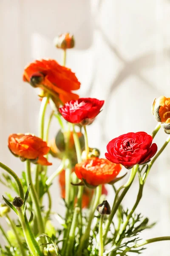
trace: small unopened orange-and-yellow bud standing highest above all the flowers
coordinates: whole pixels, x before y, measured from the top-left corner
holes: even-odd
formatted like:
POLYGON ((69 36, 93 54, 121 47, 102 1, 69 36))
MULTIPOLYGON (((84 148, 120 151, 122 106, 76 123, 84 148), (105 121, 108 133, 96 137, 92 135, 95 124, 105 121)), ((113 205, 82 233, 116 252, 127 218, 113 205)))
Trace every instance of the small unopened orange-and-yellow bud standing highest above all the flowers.
POLYGON ((54 44, 59 49, 71 49, 75 45, 74 36, 69 33, 61 34, 54 39, 54 44))

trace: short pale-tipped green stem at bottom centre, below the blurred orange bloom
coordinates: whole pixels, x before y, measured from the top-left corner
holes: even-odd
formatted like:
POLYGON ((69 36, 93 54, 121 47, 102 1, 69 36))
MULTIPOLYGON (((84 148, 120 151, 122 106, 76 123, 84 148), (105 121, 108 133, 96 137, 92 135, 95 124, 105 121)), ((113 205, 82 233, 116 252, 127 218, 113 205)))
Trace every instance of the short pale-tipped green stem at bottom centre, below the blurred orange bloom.
POLYGON ((71 223, 71 229, 70 229, 70 233, 69 233, 69 239, 68 239, 68 247, 67 247, 67 251, 66 251, 66 256, 70 256, 72 255, 72 250, 73 250, 73 245, 74 245, 74 237, 75 237, 75 230, 77 227, 77 218, 79 215, 79 207, 75 207, 74 209, 74 215, 73 215, 73 220, 71 223))

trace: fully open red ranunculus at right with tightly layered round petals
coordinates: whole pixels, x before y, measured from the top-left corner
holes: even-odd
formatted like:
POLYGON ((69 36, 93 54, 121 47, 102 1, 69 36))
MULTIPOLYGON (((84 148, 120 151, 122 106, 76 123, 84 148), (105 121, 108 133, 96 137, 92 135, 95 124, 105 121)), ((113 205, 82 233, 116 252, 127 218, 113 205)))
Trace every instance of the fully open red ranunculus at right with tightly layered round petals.
POLYGON ((152 144, 152 136, 144 131, 123 134, 107 145, 105 157, 112 163, 120 163, 130 169, 136 164, 147 163, 157 151, 156 143, 152 144))

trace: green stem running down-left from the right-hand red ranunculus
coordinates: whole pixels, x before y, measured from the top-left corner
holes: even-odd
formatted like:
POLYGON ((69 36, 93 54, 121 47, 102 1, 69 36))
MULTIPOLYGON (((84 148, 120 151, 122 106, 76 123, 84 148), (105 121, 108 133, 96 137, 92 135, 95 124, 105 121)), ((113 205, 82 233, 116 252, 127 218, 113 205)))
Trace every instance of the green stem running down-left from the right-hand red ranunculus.
MULTIPOLYGON (((123 198, 125 197, 127 191, 130 189, 130 186, 132 185, 133 183, 133 180, 136 176, 136 172, 139 168, 139 165, 136 165, 132 170, 131 170, 131 173, 130 173, 130 177, 129 177, 129 180, 127 181, 127 183, 124 185, 124 190, 122 192, 122 194, 120 195, 120 197, 118 198, 117 201, 114 201, 113 203, 113 207, 112 207, 112 210, 111 210, 111 214, 109 215, 108 217, 108 220, 106 221, 106 224, 105 224, 105 232, 104 232, 104 236, 103 236, 103 243, 105 244, 105 240, 106 240, 106 237, 107 237, 107 234, 108 234, 108 231, 109 231, 109 228, 110 228, 110 225, 111 225, 111 222, 113 220, 113 217, 117 211, 117 209, 119 208, 119 205, 121 204, 123 198)), ((119 189, 117 190, 117 192, 119 192, 119 189)), ((118 193, 116 192, 116 194, 118 195, 118 193)), ((116 197, 116 196, 115 196, 116 197)))

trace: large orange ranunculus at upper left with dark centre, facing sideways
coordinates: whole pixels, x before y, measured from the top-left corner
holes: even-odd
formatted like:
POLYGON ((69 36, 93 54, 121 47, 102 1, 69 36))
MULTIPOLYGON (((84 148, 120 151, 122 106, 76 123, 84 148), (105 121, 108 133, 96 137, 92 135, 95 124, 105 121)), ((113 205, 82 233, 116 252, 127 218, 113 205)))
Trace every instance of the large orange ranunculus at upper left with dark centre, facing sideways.
POLYGON ((49 93, 54 99, 59 97, 63 104, 71 99, 79 98, 77 94, 72 93, 72 90, 78 90, 80 87, 75 73, 69 68, 59 65, 55 60, 42 59, 32 62, 25 67, 23 80, 33 87, 43 89, 42 96, 49 93))

